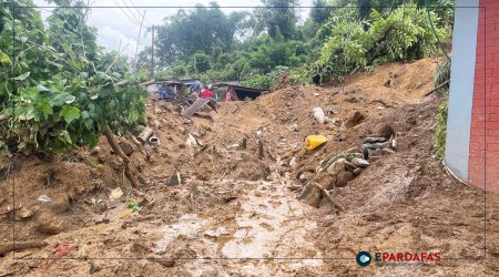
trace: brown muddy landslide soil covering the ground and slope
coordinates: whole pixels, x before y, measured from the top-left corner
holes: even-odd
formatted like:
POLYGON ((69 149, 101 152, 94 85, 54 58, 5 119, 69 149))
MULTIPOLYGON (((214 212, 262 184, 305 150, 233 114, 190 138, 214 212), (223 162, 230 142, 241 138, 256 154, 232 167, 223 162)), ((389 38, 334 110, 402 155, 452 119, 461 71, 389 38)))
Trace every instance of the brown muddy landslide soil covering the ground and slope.
POLYGON ((497 276, 499 196, 451 178, 434 154, 441 100, 424 94, 437 62, 385 64, 345 86, 285 88, 191 119, 152 98, 160 145, 120 138, 140 188, 105 140, 93 151, 3 160, 0 243, 14 232, 18 245, 38 248, 4 250, 0 276, 497 276), (333 122, 317 123, 315 106, 333 122), (310 134, 328 142, 306 151, 310 134), (390 135, 395 153, 328 191, 343 211, 324 193, 314 205, 297 198, 312 181, 330 183, 314 177, 323 161, 390 135), (361 268, 359 250, 438 252, 442 261, 361 268))

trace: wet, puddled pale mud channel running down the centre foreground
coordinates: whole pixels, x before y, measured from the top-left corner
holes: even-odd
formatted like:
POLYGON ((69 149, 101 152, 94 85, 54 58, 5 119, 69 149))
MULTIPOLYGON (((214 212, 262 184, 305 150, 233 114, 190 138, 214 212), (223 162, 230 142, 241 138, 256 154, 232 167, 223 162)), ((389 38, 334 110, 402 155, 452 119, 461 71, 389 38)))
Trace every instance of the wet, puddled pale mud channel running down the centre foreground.
POLYGON ((286 188, 286 179, 273 173, 269 181, 224 181, 247 187, 230 204, 233 216, 216 223, 208 216, 184 214, 157 229, 155 252, 167 255, 189 246, 197 259, 184 264, 184 269, 194 276, 205 268, 200 263, 215 259, 225 260, 224 269, 231 273, 255 276, 320 268, 322 253, 310 237, 316 228, 308 219, 310 207, 286 188))

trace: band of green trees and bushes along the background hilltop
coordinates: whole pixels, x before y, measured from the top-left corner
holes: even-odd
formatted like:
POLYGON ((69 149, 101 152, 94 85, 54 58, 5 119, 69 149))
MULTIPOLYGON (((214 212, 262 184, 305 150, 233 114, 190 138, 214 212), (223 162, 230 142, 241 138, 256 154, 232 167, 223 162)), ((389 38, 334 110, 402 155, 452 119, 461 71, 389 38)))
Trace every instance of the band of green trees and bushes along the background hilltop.
MULTIPOLYGON (((262 0, 253 12, 225 13, 216 3, 179 10, 156 35, 155 78, 245 80, 272 88, 326 81, 388 61, 440 55, 450 37, 454 1, 315 0, 299 22, 297 0, 262 0), (435 25, 435 32, 429 23, 435 25)), ((140 54, 149 71, 151 50, 140 54)))

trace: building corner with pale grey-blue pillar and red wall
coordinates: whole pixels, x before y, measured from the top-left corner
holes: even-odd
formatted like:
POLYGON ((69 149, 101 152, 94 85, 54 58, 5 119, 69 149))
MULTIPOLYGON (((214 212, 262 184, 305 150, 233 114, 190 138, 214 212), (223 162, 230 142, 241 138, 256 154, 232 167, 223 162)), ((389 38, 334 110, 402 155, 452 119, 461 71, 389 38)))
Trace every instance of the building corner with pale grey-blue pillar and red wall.
POLYGON ((445 162, 499 192, 499 1, 457 0, 445 162))

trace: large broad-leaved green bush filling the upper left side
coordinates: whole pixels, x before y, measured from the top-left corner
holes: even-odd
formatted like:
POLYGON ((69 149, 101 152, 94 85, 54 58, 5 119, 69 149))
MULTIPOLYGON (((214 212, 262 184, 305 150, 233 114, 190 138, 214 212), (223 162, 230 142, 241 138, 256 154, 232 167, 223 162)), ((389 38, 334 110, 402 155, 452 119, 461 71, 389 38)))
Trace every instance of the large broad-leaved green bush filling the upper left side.
MULTIPOLYGON (((54 0, 58 6, 84 2, 54 0)), ((138 127, 146 92, 126 59, 104 52, 85 8, 57 8, 45 29, 30 0, 0 3, 0 151, 94 146, 111 129, 138 127)))

